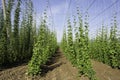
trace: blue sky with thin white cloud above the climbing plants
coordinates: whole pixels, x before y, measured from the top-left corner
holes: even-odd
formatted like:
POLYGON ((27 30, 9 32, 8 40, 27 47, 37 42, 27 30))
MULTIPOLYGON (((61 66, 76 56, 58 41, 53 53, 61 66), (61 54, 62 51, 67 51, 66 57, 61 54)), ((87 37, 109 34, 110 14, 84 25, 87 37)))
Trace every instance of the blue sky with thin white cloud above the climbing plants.
MULTIPOLYGON (((37 24, 40 24, 40 17, 43 14, 43 11, 46 9, 48 0, 32 0, 34 4, 34 10, 36 12, 37 24)), ((49 21, 54 21, 54 26, 57 32, 57 39, 60 42, 62 38, 63 28, 66 24, 66 15, 72 16, 76 15, 76 7, 79 6, 81 13, 83 14, 88 7, 91 7, 88 10, 89 13, 89 36, 94 37, 96 30, 101 27, 101 24, 104 23, 110 28, 110 20, 114 12, 117 12, 117 21, 118 29, 120 30, 120 0, 112 7, 108 8, 111 4, 117 0, 71 0, 70 8, 68 6, 70 0, 49 0, 50 6, 47 8, 48 16, 51 16, 50 8, 52 12, 52 18, 49 17, 49 21), (94 2, 93 2, 94 1, 94 2), (106 9, 108 8, 108 9, 106 9), (102 11, 105 10, 103 13, 102 11), (102 13, 98 15, 99 13, 102 13), (96 17, 96 18, 95 18, 96 17)), ((0 1, 1 6, 1 1, 0 1)))

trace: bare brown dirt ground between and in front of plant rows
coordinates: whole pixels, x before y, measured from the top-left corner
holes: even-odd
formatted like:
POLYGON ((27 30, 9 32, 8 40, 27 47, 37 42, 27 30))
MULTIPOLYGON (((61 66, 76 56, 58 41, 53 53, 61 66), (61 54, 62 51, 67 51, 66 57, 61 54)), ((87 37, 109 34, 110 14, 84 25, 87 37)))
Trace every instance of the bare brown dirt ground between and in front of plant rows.
MULTIPOLYGON (((120 70, 92 60, 99 80, 120 80, 120 70)), ((71 65, 60 50, 43 66, 42 76, 28 77, 27 64, 0 71, 0 80, 89 80, 78 77, 78 70, 71 65)))

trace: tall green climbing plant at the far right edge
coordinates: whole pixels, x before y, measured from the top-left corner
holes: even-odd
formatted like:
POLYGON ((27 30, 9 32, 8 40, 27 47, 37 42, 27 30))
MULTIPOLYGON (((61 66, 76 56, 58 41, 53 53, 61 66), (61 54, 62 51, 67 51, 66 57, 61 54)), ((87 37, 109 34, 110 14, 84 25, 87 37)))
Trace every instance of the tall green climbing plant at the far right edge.
POLYGON ((117 52, 117 50, 119 49, 119 42, 117 39, 117 22, 116 22, 116 16, 114 16, 114 22, 113 22, 113 26, 111 27, 110 30, 110 61, 111 61, 111 66, 113 68, 117 68, 119 67, 118 65, 118 56, 120 54, 120 52, 117 52))

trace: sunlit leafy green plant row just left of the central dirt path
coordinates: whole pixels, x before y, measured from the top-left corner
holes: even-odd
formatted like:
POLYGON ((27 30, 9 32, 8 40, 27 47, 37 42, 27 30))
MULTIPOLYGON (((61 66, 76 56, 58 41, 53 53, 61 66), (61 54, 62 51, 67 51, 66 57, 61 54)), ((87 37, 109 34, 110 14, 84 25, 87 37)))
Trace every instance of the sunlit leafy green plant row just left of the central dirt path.
POLYGON ((40 25, 37 42, 34 45, 33 56, 28 64, 28 74, 40 74, 42 65, 55 53, 56 48, 56 35, 47 27, 46 20, 43 20, 40 25))

